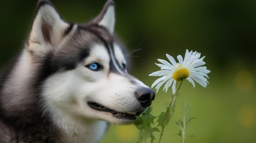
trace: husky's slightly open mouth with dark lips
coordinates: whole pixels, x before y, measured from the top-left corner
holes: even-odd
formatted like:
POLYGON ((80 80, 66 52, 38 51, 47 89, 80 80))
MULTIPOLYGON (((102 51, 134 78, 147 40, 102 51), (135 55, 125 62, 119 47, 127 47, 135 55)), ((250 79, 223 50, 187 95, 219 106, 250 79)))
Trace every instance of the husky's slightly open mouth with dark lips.
POLYGON ((132 120, 132 121, 134 121, 136 119, 135 116, 137 116, 141 113, 141 112, 117 112, 116 110, 110 109, 106 106, 103 106, 103 105, 101 105, 99 103, 95 103, 95 102, 88 102, 88 105, 94 110, 110 112, 116 118, 132 120))

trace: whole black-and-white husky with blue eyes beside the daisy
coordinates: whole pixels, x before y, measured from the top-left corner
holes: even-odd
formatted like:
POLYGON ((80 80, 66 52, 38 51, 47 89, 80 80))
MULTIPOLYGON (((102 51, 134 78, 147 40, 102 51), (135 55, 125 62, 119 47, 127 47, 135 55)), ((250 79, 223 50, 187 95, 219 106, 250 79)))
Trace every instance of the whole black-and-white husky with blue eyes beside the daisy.
POLYGON ((87 24, 65 22, 39 0, 25 48, 0 79, 0 143, 96 143, 129 124, 153 90, 127 73, 109 0, 87 24))

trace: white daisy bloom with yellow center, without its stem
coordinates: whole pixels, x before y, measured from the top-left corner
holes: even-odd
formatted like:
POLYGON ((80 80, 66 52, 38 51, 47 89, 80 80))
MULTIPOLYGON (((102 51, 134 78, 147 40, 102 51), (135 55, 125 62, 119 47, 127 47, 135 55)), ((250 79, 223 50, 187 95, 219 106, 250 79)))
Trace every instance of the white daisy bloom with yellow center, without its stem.
MULTIPOLYGON (((176 88, 176 81, 182 81, 184 79, 189 80, 193 87, 195 87, 195 82, 198 82, 203 87, 206 87, 209 83, 207 81, 208 73, 210 73, 210 70, 207 70, 206 66, 202 66, 205 64, 203 61, 204 57, 201 57, 201 53, 188 51, 186 50, 185 57, 181 55, 177 56, 178 63, 175 61, 175 59, 171 56, 166 54, 166 57, 169 59, 169 62, 167 62, 164 59, 157 59, 162 64, 157 64, 161 68, 161 70, 156 71, 154 73, 151 73, 149 76, 162 76, 159 79, 155 80, 155 82, 152 84, 151 88, 155 86, 155 89, 157 89, 157 92, 159 88, 166 82, 164 85, 165 92, 167 92, 168 87, 172 86, 173 94, 175 92, 176 88), (207 77, 207 78, 206 78, 207 77)), ((163 90, 164 90, 163 89, 163 90)))

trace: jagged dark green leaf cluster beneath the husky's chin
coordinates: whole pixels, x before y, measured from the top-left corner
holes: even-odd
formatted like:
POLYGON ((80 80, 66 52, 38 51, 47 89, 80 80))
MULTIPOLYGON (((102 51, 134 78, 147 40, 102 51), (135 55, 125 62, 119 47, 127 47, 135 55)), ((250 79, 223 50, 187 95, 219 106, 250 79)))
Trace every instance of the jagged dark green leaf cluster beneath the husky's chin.
POLYGON ((154 125, 155 117, 150 114, 152 107, 148 108, 145 113, 137 116, 135 122, 133 123, 136 128, 140 130, 139 132, 139 140, 137 143, 141 143, 148 138, 151 138, 151 143, 155 140, 155 136, 153 132, 160 132, 158 128, 153 128, 151 125, 154 125))

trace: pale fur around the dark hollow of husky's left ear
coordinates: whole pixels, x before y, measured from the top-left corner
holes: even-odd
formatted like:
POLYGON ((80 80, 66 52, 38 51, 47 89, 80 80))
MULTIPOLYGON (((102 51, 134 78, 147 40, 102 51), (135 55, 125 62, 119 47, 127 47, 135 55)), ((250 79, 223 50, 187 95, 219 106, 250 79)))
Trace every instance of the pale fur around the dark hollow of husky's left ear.
POLYGON ((38 10, 29 37, 29 50, 35 53, 46 53, 58 45, 68 24, 64 22, 56 10, 48 4, 38 10), (50 37, 51 43, 47 43, 43 37, 41 27, 43 22, 52 26, 50 37))

